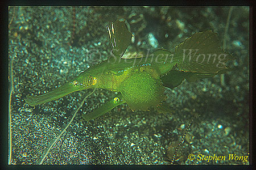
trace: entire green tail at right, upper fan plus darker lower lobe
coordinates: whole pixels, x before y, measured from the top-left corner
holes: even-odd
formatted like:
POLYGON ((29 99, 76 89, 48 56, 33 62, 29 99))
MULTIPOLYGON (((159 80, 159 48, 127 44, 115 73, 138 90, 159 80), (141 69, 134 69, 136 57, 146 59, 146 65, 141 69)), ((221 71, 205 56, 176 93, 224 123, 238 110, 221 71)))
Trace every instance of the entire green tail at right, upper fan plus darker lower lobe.
POLYGON ((217 34, 212 31, 195 33, 175 48, 176 65, 162 76, 164 86, 174 88, 183 79, 189 82, 229 71, 225 63, 235 59, 220 48, 217 34))

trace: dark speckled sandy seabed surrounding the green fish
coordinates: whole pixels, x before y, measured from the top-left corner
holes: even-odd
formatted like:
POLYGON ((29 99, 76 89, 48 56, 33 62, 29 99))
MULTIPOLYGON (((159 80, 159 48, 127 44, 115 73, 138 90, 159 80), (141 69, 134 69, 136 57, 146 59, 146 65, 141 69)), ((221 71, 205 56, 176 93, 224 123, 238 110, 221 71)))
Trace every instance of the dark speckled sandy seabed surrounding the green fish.
POLYGON ((233 70, 166 88, 169 113, 132 112, 122 104, 86 122, 82 113, 115 96, 96 89, 43 164, 170 164, 191 120, 174 164, 249 164, 249 158, 229 160, 229 154, 249 156, 249 7, 93 6, 9 7, 10 164, 38 164, 93 90, 36 107, 25 103, 26 95, 51 91, 106 60, 111 50, 106 25, 117 19, 126 19, 134 35, 126 53, 154 52, 158 45, 175 46, 211 29, 236 58, 228 62, 233 70), (226 159, 189 160, 189 154, 226 159))

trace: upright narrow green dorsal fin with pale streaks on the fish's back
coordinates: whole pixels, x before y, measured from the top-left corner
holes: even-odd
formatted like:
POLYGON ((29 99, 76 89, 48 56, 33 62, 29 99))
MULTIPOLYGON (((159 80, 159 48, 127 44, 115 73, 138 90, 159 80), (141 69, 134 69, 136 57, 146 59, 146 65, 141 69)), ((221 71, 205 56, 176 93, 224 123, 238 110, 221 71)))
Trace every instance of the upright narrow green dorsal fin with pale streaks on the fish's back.
POLYGON ((107 25, 106 28, 113 54, 122 57, 133 35, 127 30, 125 22, 119 22, 119 20, 112 22, 110 27, 107 25))

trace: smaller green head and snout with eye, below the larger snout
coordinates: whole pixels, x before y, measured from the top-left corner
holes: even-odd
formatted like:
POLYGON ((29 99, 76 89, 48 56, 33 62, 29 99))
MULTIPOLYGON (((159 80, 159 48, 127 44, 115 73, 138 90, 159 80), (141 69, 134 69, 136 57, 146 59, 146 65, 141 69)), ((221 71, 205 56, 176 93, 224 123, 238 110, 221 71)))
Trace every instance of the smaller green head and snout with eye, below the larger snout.
MULTIPOLYGON (((121 96, 121 95, 119 95, 119 96, 121 96)), ((104 105, 95 109, 93 112, 90 112, 88 114, 82 114, 82 118, 84 118, 84 120, 86 120, 86 121, 93 120, 94 118, 100 117, 100 116, 104 115, 105 113, 108 113, 113 108, 115 108, 118 105, 121 105, 123 103, 125 103, 125 100, 123 100, 121 97, 114 97, 114 99, 108 101, 104 105)))

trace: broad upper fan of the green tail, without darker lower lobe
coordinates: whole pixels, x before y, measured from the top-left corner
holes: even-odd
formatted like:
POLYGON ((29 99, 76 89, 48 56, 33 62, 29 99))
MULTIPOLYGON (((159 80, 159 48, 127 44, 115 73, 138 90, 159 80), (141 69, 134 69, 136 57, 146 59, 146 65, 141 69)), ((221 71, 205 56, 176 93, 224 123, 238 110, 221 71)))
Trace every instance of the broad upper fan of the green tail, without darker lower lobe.
POLYGON ((218 73, 225 70, 225 63, 234 59, 220 48, 217 34, 212 31, 195 33, 175 49, 180 62, 177 67, 183 71, 218 73))

